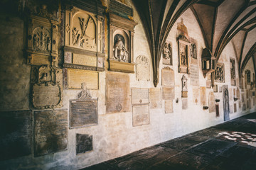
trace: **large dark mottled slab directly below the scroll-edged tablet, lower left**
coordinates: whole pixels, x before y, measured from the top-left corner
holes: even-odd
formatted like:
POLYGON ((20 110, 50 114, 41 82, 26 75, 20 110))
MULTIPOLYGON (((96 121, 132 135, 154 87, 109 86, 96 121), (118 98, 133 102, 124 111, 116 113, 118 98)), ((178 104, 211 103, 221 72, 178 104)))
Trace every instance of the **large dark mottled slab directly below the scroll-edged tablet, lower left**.
POLYGON ((68 111, 35 111, 35 157, 68 147, 68 111))

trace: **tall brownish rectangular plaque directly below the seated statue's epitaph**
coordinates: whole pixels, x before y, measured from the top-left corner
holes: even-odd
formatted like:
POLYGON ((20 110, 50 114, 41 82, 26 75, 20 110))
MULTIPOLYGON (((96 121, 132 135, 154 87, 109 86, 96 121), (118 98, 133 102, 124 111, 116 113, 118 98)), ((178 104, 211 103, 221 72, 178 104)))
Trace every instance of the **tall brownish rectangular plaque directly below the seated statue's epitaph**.
POLYGON ((129 75, 108 72, 106 84, 107 113, 130 111, 129 75))

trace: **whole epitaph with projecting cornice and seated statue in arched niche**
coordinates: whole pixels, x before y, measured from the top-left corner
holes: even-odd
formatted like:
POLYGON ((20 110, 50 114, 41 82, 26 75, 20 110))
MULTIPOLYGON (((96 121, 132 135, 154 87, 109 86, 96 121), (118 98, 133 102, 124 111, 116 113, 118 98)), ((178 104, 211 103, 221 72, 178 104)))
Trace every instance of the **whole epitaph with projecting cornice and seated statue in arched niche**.
POLYGON ((117 16, 110 11, 110 57, 109 69, 115 72, 134 73, 133 39, 134 27, 132 19, 117 16))

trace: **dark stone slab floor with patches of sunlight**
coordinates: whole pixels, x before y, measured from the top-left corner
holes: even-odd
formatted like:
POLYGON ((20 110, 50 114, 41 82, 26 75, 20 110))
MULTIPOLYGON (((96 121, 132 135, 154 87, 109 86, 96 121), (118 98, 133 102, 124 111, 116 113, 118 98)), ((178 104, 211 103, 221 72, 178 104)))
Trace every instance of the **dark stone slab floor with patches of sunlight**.
POLYGON ((256 113, 85 169, 256 169, 256 113))

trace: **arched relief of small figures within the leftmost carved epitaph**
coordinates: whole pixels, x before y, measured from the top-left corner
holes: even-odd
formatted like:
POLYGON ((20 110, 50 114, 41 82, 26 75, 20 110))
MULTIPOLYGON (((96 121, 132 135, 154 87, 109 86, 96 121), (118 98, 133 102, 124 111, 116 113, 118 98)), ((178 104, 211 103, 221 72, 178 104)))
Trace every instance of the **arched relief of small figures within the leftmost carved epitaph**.
POLYGON ((36 51, 50 51, 51 38, 50 32, 43 26, 37 27, 33 31, 33 50, 36 51))

